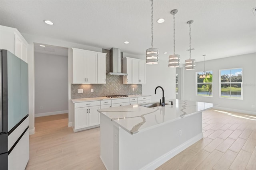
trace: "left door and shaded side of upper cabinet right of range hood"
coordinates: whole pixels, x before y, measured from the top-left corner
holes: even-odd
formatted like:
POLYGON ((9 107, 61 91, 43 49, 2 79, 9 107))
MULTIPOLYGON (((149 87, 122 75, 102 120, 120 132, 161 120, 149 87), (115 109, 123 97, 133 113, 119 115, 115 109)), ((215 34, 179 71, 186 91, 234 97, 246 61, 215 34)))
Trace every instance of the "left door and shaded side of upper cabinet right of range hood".
POLYGON ((132 58, 123 59, 123 73, 127 73, 127 76, 123 76, 123 84, 133 84, 132 81, 132 58))

